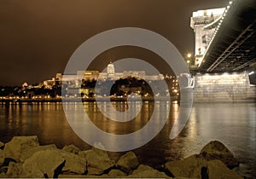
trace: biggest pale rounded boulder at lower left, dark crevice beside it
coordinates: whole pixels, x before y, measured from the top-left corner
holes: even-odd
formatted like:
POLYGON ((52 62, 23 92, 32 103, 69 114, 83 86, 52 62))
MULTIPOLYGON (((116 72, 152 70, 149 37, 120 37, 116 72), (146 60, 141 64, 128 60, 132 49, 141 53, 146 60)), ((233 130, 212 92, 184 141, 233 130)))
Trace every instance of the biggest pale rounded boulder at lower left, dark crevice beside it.
POLYGON ((23 177, 56 177, 55 174, 65 165, 61 152, 47 149, 32 154, 22 165, 23 177))

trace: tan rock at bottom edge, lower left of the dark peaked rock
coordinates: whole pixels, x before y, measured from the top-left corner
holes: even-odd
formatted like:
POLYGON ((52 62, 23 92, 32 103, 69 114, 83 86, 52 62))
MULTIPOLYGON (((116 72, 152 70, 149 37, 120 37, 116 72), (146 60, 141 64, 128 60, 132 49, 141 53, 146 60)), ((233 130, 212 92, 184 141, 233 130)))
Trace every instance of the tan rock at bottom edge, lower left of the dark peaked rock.
POLYGON ((205 166, 207 160, 195 154, 186 159, 168 162, 165 169, 175 177, 201 178, 201 168, 205 166))

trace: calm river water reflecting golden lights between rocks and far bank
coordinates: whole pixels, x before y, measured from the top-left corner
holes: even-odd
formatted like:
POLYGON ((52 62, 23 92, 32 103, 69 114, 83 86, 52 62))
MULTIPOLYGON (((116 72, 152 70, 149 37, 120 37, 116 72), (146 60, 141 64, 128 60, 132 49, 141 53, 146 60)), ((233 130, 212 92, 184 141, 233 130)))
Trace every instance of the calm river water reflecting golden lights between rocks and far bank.
MULTIPOLYGON (((119 111, 124 102, 115 102, 119 111)), ((129 124, 111 124, 96 107, 95 102, 84 103, 85 112, 101 130, 113 134, 130 133, 147 124, 154 107, 160 103, 145 102, 141 113, 129 124)), ((256 178, 256 104, 254 103, 197 103, 194 104, 188 123, 175 139, 169 135, 177 118, 179 105, 170 104, 170 115, 160 133, 143 147, 134 150, 139 161, 158 167, 167 161, 183 159, 199 153, 209 141, 222 141, 241 162, 242 176, 256 178)), ((108 110, 108 109, 107 109, 108 110)), ((160 111, 156 110, 156 113, 160 111)), ((74 144, 82 150, 90 145, 73 132, 67 122, 61 103, 9 104, 0 103, 0 141, 13 136, 37 135, 42 145, 55 143, 57 147, 74 144)), ((118 159, 123 153, 110 153, 118 159)))

